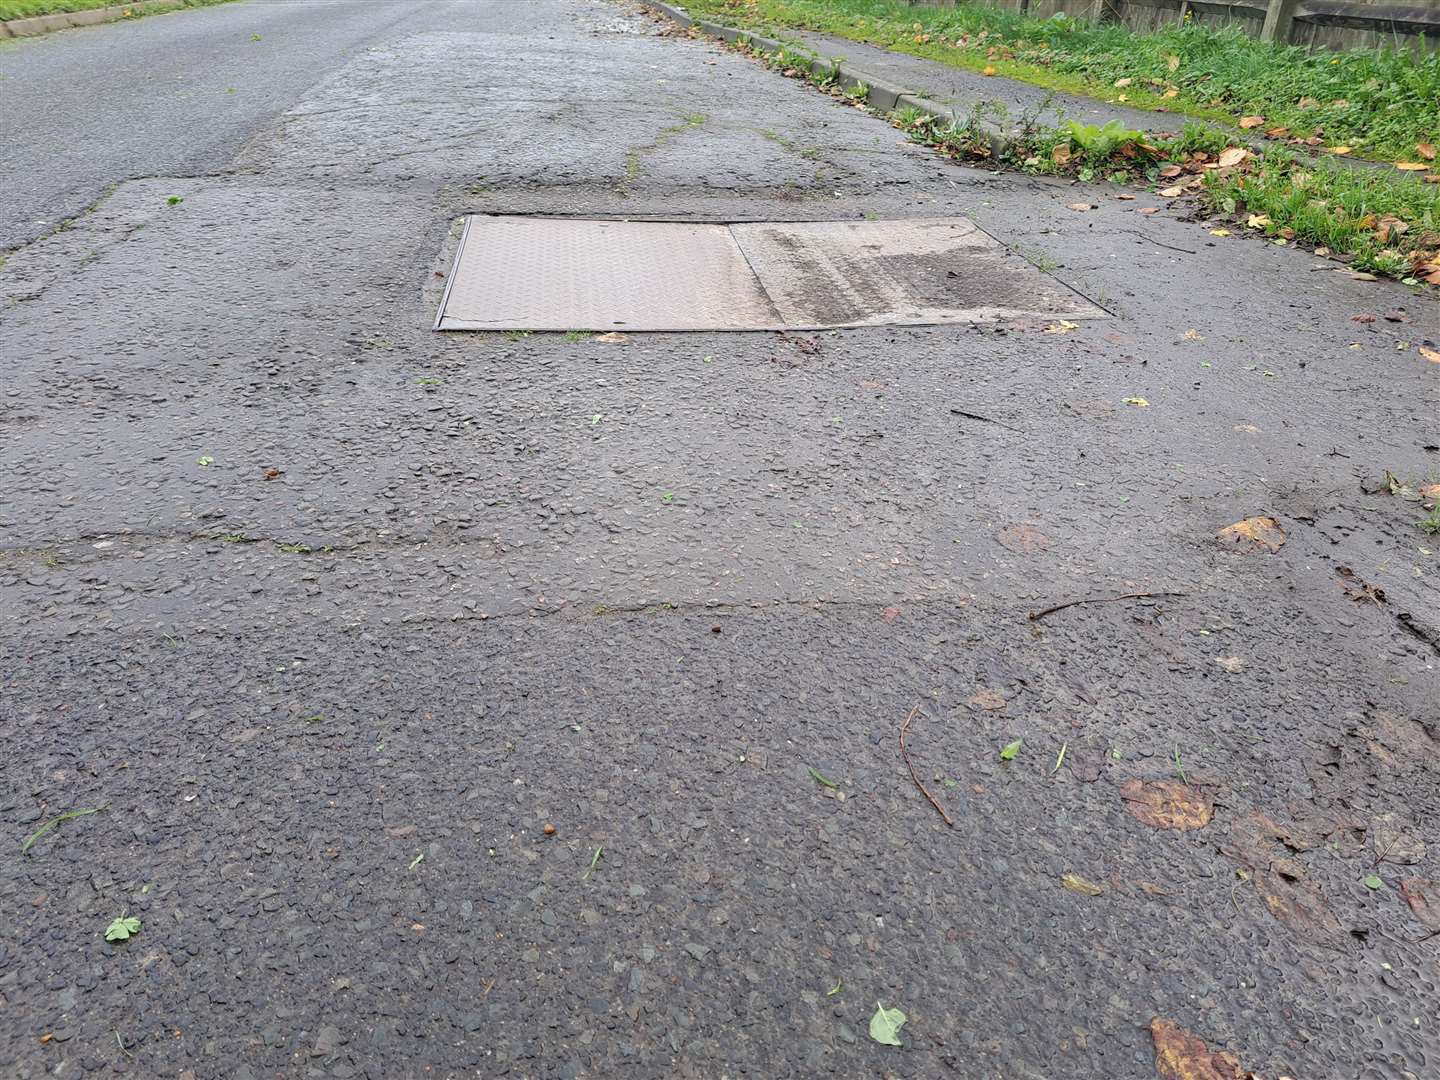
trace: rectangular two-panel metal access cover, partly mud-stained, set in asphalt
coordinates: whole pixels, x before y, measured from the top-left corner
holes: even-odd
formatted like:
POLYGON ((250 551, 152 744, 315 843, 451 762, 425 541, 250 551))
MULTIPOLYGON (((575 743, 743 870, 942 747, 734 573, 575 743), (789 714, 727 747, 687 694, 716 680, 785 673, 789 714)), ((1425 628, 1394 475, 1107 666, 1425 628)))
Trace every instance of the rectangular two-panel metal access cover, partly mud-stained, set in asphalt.
POLYGON ((963 217, 472 216, 436 330, 827 330, 1100 318, 963 217))

